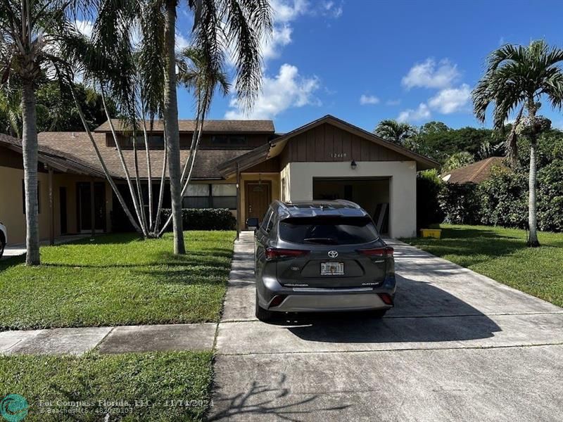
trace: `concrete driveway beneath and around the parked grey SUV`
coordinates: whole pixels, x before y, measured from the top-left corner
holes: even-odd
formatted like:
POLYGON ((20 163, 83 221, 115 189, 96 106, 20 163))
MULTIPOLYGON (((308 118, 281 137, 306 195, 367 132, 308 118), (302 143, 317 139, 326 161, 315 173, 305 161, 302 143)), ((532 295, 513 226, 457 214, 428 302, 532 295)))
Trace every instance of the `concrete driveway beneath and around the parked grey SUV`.
POLYGON ((254 316, 252 234, 235 247, 212 421, 561 421, 563 309, 402 243, 396 308, 254 316))

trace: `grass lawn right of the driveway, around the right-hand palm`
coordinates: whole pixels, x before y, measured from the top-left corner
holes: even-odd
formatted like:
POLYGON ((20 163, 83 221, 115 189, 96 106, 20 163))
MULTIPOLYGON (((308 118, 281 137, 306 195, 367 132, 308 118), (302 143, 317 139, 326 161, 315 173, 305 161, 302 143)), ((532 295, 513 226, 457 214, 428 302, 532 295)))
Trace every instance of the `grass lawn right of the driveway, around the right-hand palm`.
POLYGON ((442 238, 406 243, 563 307, 563 234, 540 233, 541 248, 526 246, 526 231, 442 224, 442 238))

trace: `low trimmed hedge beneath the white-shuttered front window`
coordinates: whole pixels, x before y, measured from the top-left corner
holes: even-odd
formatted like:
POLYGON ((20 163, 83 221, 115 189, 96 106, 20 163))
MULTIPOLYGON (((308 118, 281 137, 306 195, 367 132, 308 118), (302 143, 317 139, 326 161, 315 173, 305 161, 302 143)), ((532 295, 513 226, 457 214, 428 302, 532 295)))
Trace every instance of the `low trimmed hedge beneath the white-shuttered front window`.
MULTIPOLYGON (((160 214, 163 224, 170 217, 172 210, 165 208, 160 214)), ((182 223, 184 230, 233 230, 236 219, 228 208, 183 208, 182 223)), ((167 231, 172 231, 172 223, 167 231)))

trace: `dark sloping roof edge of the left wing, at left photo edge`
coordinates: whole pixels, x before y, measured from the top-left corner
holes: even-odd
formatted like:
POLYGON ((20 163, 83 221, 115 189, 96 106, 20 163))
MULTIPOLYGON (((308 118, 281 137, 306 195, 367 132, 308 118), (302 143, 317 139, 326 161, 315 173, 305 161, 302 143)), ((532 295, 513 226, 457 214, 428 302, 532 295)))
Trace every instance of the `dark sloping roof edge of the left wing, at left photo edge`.
MULTIPOLYGON (((23 146, 20 139, 6 134, 0 134, 0 145, 10 148, 12 151, 23 154, 23 146)), ((37 148, 37 160, 43 164, 50 165, 60 172, 75 174, 87 174, 95 177, 105 177, 101 167, 91 165, 87 160, 82 160, 72 153, 59 151, 49 146, 39 145, 37 148)))

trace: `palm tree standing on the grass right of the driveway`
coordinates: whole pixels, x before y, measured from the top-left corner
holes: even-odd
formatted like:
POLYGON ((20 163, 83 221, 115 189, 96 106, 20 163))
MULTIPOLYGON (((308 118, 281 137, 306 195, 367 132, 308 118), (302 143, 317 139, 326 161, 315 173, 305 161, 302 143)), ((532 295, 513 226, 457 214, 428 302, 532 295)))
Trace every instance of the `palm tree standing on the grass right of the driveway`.
POLYGON ((486 72, 472 92, 474 113, 481 122, 485 122, 486 110, 493 104, 495 129, 502 130, 508 117, 519 110, 506 149, 512 162, 516 162, 517 136, 530 140, 528 245, 531 247, 540 245, 536 221, 538 136, 550 127, 549 120, 539 116, 538 110, 541 98, 553 108, 561 108, 562 62, 563 50, 548 46, 544 40, 532 41, 529 46, 507 44, 488 56, 486 72))

